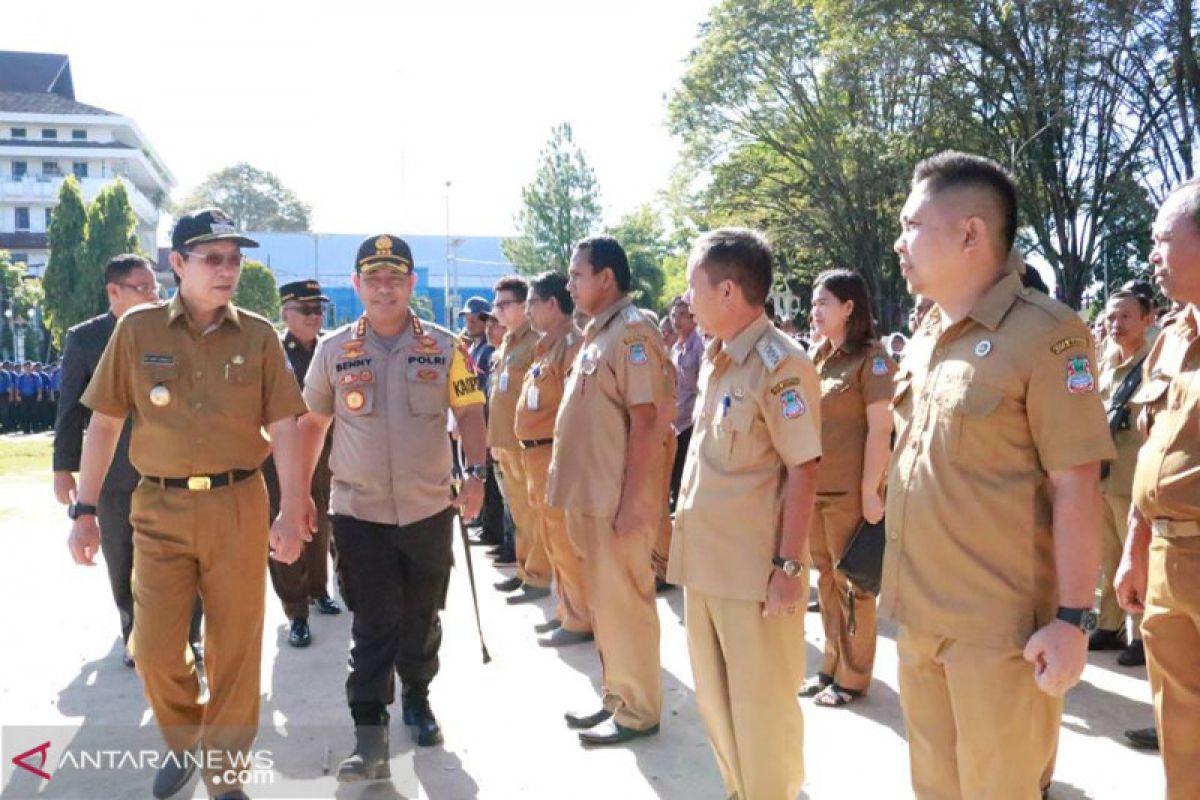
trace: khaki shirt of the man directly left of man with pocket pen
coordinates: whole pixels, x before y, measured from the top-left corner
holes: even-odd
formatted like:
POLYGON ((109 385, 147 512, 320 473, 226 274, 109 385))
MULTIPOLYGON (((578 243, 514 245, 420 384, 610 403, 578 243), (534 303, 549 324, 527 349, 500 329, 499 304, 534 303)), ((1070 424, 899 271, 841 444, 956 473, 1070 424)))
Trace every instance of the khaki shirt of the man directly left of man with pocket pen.
MULTIPOLYGON (((659 332, 629 297, 588 323, 554 421, 546 488, 552 506, 616 516, 625 477, 629 409, 650 404, 659 420, 674 416, 673 373, 659 332)), ((665 428, 664 444, 667 435, 665 428)), ((652 488, 640 499, 660 500, 661 493, 652 488)))

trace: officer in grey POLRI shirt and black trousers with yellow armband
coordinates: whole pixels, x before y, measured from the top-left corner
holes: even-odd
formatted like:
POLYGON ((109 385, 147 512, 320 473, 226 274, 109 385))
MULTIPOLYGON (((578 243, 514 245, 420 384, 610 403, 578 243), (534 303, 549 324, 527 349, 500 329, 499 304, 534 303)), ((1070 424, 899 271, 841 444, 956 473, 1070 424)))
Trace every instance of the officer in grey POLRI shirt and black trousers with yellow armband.
POLYGON ((448 413, 462 434, 458 499, 468 517, 479 511, 486 469, 484 393, 455 336, 409 309, 416 275, 408 245, 390 234, 367 237, 353 281, 364 315, 318 342, 305 380, 311 414, 301 421, 307 464, 337 421, 330 506, 354 615, 346 696, 355 735, 340 781, 390 775, 394 668, 416 744, 442 741, 428 688, 438 672, 455 519, 448 413))

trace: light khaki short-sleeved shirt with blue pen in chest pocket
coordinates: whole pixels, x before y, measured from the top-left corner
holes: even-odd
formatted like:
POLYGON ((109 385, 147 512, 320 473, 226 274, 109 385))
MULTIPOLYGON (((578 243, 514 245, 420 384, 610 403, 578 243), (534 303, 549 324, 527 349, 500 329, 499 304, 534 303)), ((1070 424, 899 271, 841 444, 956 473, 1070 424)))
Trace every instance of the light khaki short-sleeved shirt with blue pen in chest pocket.
POLYGON ((821 457, 821 385, 804 349, 760 317, 712 342, 684 467, 667 581, 764 601, 787 469, 821 457))

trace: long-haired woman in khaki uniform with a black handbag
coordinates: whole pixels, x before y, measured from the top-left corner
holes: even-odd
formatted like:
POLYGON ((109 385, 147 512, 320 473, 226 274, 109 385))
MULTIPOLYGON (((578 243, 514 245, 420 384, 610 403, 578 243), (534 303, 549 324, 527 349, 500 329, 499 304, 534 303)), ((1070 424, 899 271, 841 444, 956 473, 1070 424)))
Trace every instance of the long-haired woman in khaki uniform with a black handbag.
POLYGON ((857 272, 828 270, 817 276, 812 324, 823 339, 812 354, 821 375, 823 456, 809 552, 820 571, 826 645, 821 670, 804 684, 800 697, 838 706, 863 696, 875 664, 875 599, 853 589, 834 565, 863 519, 883 517, 895 363, 876 338, 870 296, 857 272))

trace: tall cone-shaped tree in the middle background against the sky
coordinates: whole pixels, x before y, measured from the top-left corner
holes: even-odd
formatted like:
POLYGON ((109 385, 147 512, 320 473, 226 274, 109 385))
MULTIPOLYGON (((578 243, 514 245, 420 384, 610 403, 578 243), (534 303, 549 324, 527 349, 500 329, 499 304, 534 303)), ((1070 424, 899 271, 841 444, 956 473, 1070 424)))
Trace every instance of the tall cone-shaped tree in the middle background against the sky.
POLYGON ((521 190, 518 235, 500 242, 504 257, 526 275, 566 272, 575 242, 600 222, 599 196, 595 173, 563 122, 538 156, 533 182, 521 190))

